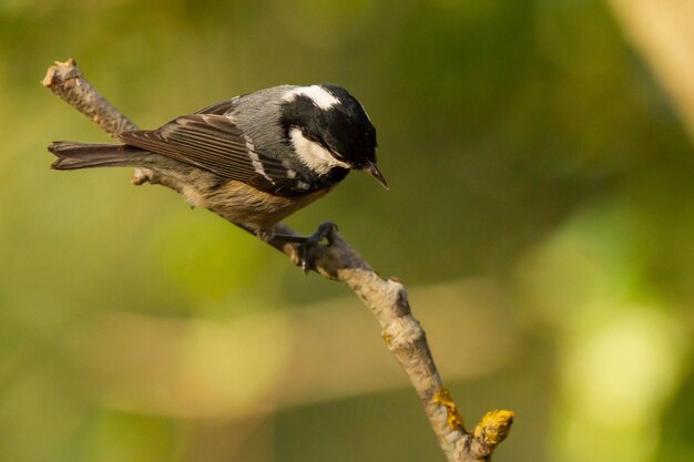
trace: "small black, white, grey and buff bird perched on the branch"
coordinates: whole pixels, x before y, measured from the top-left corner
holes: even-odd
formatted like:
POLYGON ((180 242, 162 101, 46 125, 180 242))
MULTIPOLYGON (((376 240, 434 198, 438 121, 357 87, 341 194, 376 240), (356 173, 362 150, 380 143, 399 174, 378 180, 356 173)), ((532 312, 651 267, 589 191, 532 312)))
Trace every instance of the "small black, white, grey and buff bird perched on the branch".
MULTIPOLYGON (((116 141, 53 142, 49 151, 58 160, 51 167, 143 167, 175 185, 191 206, 266 242, 277 237, 280 220, 353 170, 388 188, 376 164, 376 129, 361 103, 333 83, 258 90, 156 130, 120 133, 116 141)), ((147 179, 137 175, 135 184, 147 179)))

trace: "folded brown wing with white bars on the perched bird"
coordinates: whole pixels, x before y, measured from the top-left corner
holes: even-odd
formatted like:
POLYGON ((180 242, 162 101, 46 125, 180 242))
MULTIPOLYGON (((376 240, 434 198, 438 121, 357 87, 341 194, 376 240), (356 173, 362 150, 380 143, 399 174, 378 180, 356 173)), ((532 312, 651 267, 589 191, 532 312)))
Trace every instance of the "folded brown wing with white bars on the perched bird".
POLYGON ((207 110, 214 113, 184 115, 159 130, 125 132, 119 138, 262 191, 286 195, 307 192, 296 172, 282 160, 257 151, 229 117, 221 115, 225 112, 222 104, 203 111, 207 110))

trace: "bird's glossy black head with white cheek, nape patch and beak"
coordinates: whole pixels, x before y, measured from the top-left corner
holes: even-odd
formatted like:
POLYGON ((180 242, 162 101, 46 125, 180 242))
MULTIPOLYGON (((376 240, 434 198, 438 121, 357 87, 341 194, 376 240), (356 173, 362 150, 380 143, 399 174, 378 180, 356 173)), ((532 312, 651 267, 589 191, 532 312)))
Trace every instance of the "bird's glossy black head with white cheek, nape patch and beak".
POLYGON ((320 84, 289 90, 283 96, 280 123, 299 161, 317 174, 361 170, 386 186, 376 167, 376 129, 344 88, 320 84))

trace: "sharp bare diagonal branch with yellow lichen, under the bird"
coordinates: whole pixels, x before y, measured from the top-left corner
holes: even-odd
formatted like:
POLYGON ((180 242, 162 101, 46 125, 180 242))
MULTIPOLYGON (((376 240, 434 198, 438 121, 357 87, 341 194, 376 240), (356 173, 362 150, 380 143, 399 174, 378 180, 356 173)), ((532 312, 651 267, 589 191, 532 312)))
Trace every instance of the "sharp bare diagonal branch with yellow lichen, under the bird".
MULTIPOLYGON (((49 68, 42 83, 111 136, 136 129, 134 123, 94 90, 73 60, 57 62, 49 68)), ((156 172, 137 170, 133 183, 145 182, 162 184, 181 192, 180 185, 156 172)), ((276 230, 282 235, 300 236, 284 224, 279 224, 276 230)), ((327 240, 327 245, 317 246, 313 250, 316 253, 313 255, 314 270, 328 279, 345 283, 371 310, 380 325, 388 349, 410 378, 448 460, 451 462, 489 460, 496 446, 508 435, 513 413, 489 412, 472 433, 466 431, 456 403, 443 388, 425 331, 411 314, 405 286, 395 278, 384 279, 376 274, 337 230, 333 229, 327 240)), ((297 264, 296 244, 286 242, 268 244, 297 264)))

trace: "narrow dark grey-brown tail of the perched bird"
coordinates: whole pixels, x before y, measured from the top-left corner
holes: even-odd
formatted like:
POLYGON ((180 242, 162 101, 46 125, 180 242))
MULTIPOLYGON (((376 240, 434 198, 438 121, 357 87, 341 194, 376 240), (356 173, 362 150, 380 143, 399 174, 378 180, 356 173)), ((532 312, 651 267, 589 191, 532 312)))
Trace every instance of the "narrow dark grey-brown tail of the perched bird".
POLYGON ((137 167, 144 166, 152 154, 126 144, 89 144, 69 141, 53 142, 48 150, 58 160, 51 168, 75 170, 90 167, 137 167))

